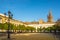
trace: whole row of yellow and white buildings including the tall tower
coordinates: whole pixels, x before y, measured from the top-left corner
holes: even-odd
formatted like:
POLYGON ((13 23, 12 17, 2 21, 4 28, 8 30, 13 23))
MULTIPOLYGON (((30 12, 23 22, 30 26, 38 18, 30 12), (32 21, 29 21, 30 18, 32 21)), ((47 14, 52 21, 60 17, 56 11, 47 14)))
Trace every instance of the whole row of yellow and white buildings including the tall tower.
MULTIPOLYGON (((34 28, 47 28, 47 27, 52 27, 53 25, 55 25, 55 22, 53 21, 53 16, 52 16, 52 12, 49 11, 49 14, 47 16, 47 22, 44 22, 44 20, 40 19, 37 22, 22 22, 22 21, 18 21, 15 19, 10 19, 10 23, 14 24, 14 25, 25 25, 25 26, 31 26, 34 28)), ((8 22, 8 16, 5 16, 4 14, 0 14, 0 23, 6 23, 8 22)))

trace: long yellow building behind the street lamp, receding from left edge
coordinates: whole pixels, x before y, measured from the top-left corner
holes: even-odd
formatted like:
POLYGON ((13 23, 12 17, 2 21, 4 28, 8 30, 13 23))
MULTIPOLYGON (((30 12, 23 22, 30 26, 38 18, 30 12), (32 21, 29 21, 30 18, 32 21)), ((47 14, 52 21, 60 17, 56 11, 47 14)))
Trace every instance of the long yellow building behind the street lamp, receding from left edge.
MULTIPOLYGON (((0 23, 6 23, 8 22, 8 16, 5 16, 4 14, 0 14, 0 23)), ((14 25, 23 25, 21 21, 10 19, 10 23, 14 25)))

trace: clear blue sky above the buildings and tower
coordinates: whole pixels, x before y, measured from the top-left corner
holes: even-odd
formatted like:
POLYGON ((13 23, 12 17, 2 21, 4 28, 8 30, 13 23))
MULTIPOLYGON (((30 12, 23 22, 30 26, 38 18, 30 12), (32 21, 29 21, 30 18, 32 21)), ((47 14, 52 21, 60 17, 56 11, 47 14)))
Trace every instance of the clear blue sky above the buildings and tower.
POLYGON ((53 20, 60 18, 60 0, 0 0, 0 13, 11 11, 13 18, 20 21, 47 21, 49 10, 53 20))

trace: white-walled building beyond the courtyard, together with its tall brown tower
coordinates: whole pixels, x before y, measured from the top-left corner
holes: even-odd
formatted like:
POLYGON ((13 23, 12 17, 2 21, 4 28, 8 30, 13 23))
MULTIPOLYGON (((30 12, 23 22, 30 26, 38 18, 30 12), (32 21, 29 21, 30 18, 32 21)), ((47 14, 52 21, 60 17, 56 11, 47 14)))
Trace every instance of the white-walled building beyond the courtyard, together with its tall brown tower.
POLYGON ((44 20, 40 19, 38 22, 24 22, 24 24, 26 24, 27 26, 35 27, 36 29, 40 27, 41 28, 52 27, 53 25, 55 25, 51 10, 48 13, 47 19, 48 19, 47 22, 44 22, 44 20))

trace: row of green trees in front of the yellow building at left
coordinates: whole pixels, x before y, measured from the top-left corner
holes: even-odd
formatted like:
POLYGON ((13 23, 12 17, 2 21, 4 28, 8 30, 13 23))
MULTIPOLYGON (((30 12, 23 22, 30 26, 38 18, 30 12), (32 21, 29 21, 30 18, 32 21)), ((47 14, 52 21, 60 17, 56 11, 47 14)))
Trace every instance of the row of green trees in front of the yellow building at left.
MULTIPOLYGON (((9 24, 10 30, 20 30, 20 31, 35 31, 36 29, 34 27, 30 26, 24 26, 24 25, 14 25, 14 24, 9 24)), ((0 23, 0 29, 7 30, 8 29, 8 23, 1 24, 0 23)))

